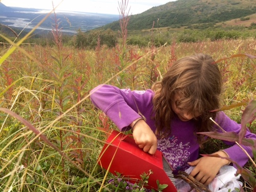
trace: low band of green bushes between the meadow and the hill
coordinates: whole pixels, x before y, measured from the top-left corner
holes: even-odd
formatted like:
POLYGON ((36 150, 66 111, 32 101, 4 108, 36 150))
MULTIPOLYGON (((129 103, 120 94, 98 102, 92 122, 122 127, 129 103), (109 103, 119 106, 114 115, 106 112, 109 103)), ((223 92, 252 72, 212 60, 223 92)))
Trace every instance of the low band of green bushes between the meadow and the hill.
MULTIPOLYGON (((183 30, 157 28, 140 32, 131 31, 127 35, 127 45, 139 47, 154 45, 156 47, 160 47, 163 45, 172 45, 173 42, 202 42, 208 40, 250 39, 256 37, 256 33, 253 30, 256 29, 255 23, 251 23, 250 27, 248 27, 250 30, 245 30, 243 27, 208 28, 207 26, 206 29, 204 29, 205 25, 197 24, 189 25, 186 28, 183 28, 183 30)), ((9 38, 12 40, 16 39, 15 36, 10 36, 9 38)), ((7 44, 7 41, 3 37, 0 37, 0 40, 1 39, 2 41, 0 42, 2 42, 2 45, 3 43, 7 44)), ((62 35, 63 45, 85 49, 95 49, 97 46, 102 45, 112 48, 115 47, 120 40, 121 38, 119 38, 119 34, 111 29, 97 29, 88 32, 82 32, 79 30, 75 36, 62 35)), ((54 46, 55 44, 52 34, 31 37, 26 39, 25 43, 41 46, 54 46)))

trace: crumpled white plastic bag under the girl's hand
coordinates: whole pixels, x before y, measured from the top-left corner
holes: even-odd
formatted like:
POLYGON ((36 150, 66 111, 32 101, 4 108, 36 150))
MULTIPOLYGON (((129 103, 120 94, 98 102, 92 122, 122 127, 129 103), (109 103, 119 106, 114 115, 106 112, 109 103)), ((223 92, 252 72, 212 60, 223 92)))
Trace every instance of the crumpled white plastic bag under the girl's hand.
MULTIPOLYGON (((189 167, 185 170, 187 174, 190 174, 194 167, 189 167)), ((230 189, 231 192, 236 191, 236 188, 241 188, 243 183, 238 181, 240 175, 235 176, 237 169, 230 165, 225 165, 221 167, 218 175, 210 182, 208 189, 212 192, 226 192, 230 189)), ((191 187, 188 183, 182 179, 176 179, 176 188, 179 192, 187 192, 191 190, 191 187)), ((195 189, 191 191, 196 191, 195 189)))

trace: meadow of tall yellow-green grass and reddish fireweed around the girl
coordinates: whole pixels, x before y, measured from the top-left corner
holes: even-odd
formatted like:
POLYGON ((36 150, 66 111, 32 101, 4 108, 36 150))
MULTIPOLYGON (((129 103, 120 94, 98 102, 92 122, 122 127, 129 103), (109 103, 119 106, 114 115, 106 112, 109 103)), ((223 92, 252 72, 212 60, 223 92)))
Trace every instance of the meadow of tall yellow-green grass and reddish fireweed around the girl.
MULTIPOLYGON (((256 96, 253 38, 174 41, 161 47, 123 41, 114 48, 98 44, 88 50, 63 46, 61 31, 53 34, 54 46, 1 47, 1 191, 114 191, 108 181, 118 178, 97 164, 104 140, 116 129, 90 101, 90 90, 98 84, 150 89, 177 59, 206 53, 221 69, 223 106, 236 106, 226 114, 240 122, 245 105, 239 103, 256 96)), ((256 132, 254 122, 248 126, 256 132)), ((209 142, 214 149, 221 147, 216 140, 209 142)), ((254 168, 247 165, 251 174, 254 168)))

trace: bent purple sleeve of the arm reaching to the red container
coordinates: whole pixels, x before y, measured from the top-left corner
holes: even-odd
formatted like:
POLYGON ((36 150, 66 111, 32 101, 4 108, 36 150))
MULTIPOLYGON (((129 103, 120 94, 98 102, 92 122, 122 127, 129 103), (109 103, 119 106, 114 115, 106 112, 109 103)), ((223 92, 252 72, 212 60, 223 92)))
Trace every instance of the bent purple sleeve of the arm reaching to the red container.
POLYGON ((130 89, 119 89, 107 84, 100 84, 91 92, 91 101, 103 111, 118 127, 120 131, 131 129, 129 125, 144 113, 147 104, 150 105, 151 90, 131 91, 130 89), (144 96, 145 95, 145 96, 144 96))

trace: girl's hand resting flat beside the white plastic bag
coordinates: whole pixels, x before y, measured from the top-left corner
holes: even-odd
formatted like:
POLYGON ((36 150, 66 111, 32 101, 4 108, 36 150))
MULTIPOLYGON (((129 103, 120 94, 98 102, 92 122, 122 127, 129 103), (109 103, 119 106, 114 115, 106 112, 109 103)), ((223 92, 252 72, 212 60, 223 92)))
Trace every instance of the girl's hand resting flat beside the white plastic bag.
MULTIPOLYGON (((219 151, 212 155, 218 154, 221 157, 228 157, 228 155, 219 151)), ((223 165, 228 164, 229 161, 218 157, 201 157, 193 162, 188 162, 190 166, 195 166, 190 175, 204 185, 208 185, 218 174, 223 165)))

